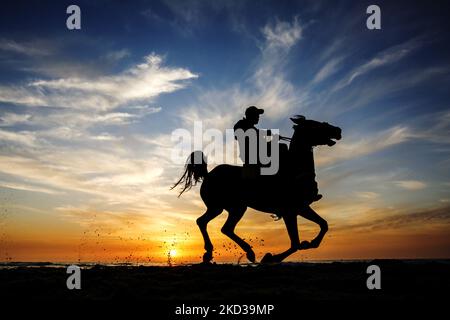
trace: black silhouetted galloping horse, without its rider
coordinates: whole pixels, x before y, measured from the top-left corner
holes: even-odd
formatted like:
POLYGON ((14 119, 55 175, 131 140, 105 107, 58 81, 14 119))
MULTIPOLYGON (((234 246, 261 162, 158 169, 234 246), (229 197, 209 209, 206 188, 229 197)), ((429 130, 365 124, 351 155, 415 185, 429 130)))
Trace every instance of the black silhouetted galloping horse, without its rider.
POLYGON ((261 262, 281 262, 297 250, 317 248, 320 245, 328 231, 328 224, 310 207, 311 201, 306 200, 309 199, 311 188, 315 187, 310 183, 314 182, 312 148, 318 145, 334 145, 336 142, 333 139, 341 139, 341 129, 325 122, 306 120, 302 116, 291 120, 295 123, 294 134, 288 154, 281 154, 281 173, 277 175, 243 179, 242 167, 226 164, 219 165, 208 173, 203 152, 194 151, 191 154, 183 176, 174 187, 184 184, 181 195, 203 180, 200 195, 207 210, 197 219, 205 241, 203 262, 210 262, 213 252, 213 245, 206 230, 207 224, 224 209, 229 214, 221 231, 246 252, 251 262, 255 262, 255 253, 251 246, 234 233, 236 224, 247 207, 282 217, 291 240, 288 250, 276 255, 267 253, 261 262), (300 242, 297 215, 320 226, 319 234, 311 242, 300 242))

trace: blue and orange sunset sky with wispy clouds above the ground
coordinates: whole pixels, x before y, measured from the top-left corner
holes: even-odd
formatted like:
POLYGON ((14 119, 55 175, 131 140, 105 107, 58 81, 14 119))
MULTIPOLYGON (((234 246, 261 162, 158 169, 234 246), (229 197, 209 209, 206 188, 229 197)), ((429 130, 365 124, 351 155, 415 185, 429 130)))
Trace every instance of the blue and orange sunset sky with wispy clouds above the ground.
MULTIPOLYGON (((342 128, 314 151, 330 230, 291 261, 450 258, 449 5, 377 1, 369 30, 371 4, 2 2, 0 261, 200 261, 205 206, 198 186, 170 190, 172 133, 224 132, 249 105, 285 136, 296 114, 342 128)), ((245 262, 226 216, 208 227, 215 261, 245 262)), ((301 240, 318 232, 298 224, 301 240)), ((289 246, 283 222, 252 209, 236 233, 258 260, 289 246)))

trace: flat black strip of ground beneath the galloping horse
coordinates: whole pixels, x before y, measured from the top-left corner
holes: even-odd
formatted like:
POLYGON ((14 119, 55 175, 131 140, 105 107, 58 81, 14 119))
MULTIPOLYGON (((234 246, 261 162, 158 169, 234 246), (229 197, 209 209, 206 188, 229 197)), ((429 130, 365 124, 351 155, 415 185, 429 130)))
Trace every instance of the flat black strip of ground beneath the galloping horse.
POLYGON ((0 298, 196 301, 448 300, 450 262, 372 262, 178 267, 94 266, 81 271, 81 290, 68 290, 65 268, 0 269, 0 298), (381 269, 381 290, 368 290, 366 269, 381 269))

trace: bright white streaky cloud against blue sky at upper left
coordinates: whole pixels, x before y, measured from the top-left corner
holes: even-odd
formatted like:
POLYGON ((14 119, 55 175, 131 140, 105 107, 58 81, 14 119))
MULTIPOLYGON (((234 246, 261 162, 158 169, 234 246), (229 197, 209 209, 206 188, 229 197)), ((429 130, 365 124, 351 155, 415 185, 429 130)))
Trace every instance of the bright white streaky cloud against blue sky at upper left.
POLYGON ((118 75, 99 78, 36 80, 23 87, 0 87, 0 101, 72 109, 111 110, 129 103, 150 102, 186 86, 198 76, 183 68, 162 65, 156 54, 118 75))

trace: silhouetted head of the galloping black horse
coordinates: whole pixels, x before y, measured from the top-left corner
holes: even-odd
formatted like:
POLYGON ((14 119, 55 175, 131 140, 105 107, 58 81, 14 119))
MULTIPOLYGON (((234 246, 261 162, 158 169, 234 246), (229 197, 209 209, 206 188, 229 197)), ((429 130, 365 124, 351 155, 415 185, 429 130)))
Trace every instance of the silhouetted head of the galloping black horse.
POLYGON ((341 128, 332 126, 327 122, 307 120, 304 116, 295 116, 291 120, 295 123, 293 142, 311 147, 320 145, 331 147, 336 144, 335 140, 342 138, 341 128))

